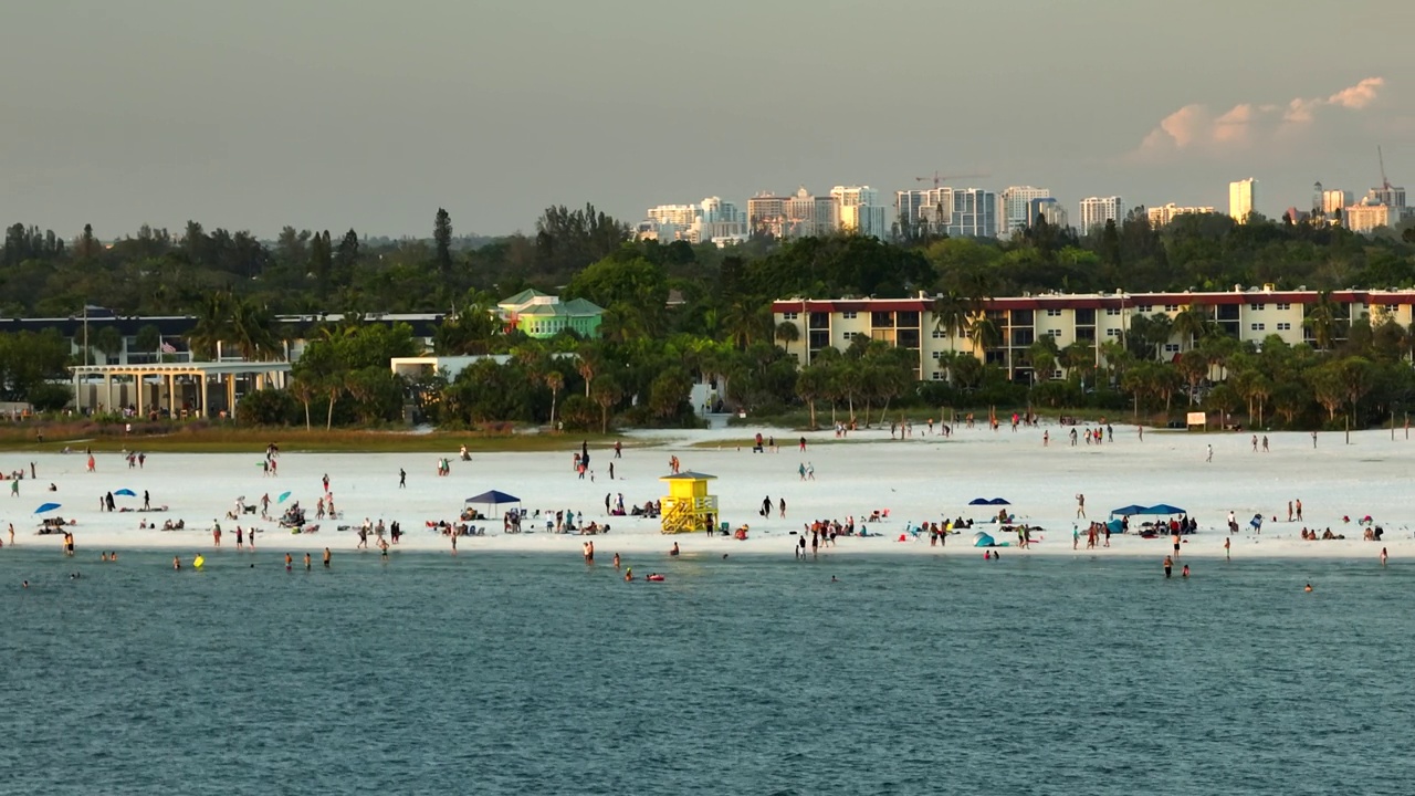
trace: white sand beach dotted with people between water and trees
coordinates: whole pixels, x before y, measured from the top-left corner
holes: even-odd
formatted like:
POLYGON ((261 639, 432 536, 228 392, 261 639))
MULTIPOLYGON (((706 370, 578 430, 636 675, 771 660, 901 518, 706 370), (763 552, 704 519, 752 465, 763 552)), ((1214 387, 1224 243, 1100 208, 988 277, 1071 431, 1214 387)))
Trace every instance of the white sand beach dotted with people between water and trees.
MULTIPOLYGON (((774 435, 777 452, 740 450, 727 439, 743 439, 758 429, 695 432, 642 432, 625 436, 634 443, 623 459, 614 460, 616 480, 608 479, 611 449, 591 448, 594 480, 579 480, 572 470, 572 453, 478 453, 471 462, 458 462, 449 450, 451 474, 434 474, 437 453, 299 453, 286 450, 279 459, 279 476, 265 477, 263 453, 177 455, 153 453, 143 469, 129 469, 117 453, 96 453, 96 472, 85 472, 82 452, 31 456, 0 455, 6 473, 35 463, 37 479, 23 480, 18 497, 10 483, 0 487, 0 530, 13 523, 16 542, 23 547, 52 545, 61 537, 37 535, 40 516, 35 508, 47 501, 61 508, 45 516, 76 520, 69 530, 81 557, 98 557, 100 550, 157 548, 190 557, 212 548, 211 525, 219 521, 225 531, 222 547, 233 550, 235 525, 260 530, 258 550, 320 551, 330 547, 337 554, 354 551, 354 531, 365 517, 403 525, 405 537, 398 551, 449 552, 449 540, 426 527, 429 521, 456 520, 467 497, 490 489, 521 499, 528 511, 573 510, 586 520, 608 523, 611 531, 597 537, 553 534, 545 520, 528 520, 533 533, 502 534, 501 521, 485 523, 487 535, 458 540, 461 555, 478 551, 545 551, 579 555, 582 542, 593 538, 599 558, 614 552, 645 555, 666 551, 678 542, 685 555, 696 554, 771 554, 791 555, 795 537, 811 520, 845 520, 853 516, 870 538, 842 538, 824 552, 845 554, 932 554, 981 555, 972 547, 972 533, 996 533, 988 520, 996 508, 969 507, 975 497, 1003 497, 1019 521, 1044 530, 1033 535, 1032 550, 1010 548, 1006 555, 1153 555, 1167 552, 1167 538, 1143 540, 1115 535, 1111 547, 1084 550, 1085 521, 1081 521, 1081 551, 1071 548, 1075 496, 1085 494, 1087 514, 1105 520, 1112 508, 1126 504, 1169 503, 1187 510, 1199 521, 1199 533, 1184 537, 1184 555, 1223 557, 1230 538, 1227 514, 1234 511, 1242 533, 1232 535, 1232 557, 1329 557, 1371 558, 1380 548, 1392 559, 1415 557, 1415 493, 1404 489, 1405 467, 1415 463, 1415 440, 1402 429, 1395 439, 1388 431, 1351 433, 1350 445, 1341 433, 1322 433, 1313 449, 1309 433, 1271 433, 1271 452, 1254 453, 1251 433, 1184 433, 1146 431, 1143 440, 1132 425, 1116 425, 1115 440, 1105 445, 1070 446, 1068 429, 1057 425, 1023 428, 1016 433, 1009 425, 992 432, 982 425, 958 428, 951 438, 925 436, 924 423, 914 426, 914 436, 891 440, 884 429, 859 431, 846 440, 833 432, 807 435, 807 450, 798 450, 799 433, 760 429, 774 435), (1043 446, 1043 432, 1050 432, 1043 446), (713 445, 720 442, 720 446, 713 445), (706 445, 706 446, 705 446, 706 445), (1213 462, 1206 462, 1213 445, 1213 462), (657 520, 607 517, 604 496, 624 494, 628 506, 642 504, 665 494, 659 476, 666 474, 669 456, 676 455, 685 470, 712 473, 712 493, 719 496, 722 520, 733 527, 750 525, 749 540, 729 537, 662 535, 657 520), (801 463, 815 469, 814 482, 802 482, 801 463), (408 470, 408 487, 398 489, 398 470, 408 470), (228 520, 238 497, 255 504, 262 494, 275 501, 290 491, 286 506, 299 501, 313 510, 321 494, 321 476, 328 473, 330 490, 342 517, 320 521, 316 534, 290 534, 273 521, 253 516, 228 520), (57 491, 48 491, 52 483, 57 491), (119 497, 119 508, 142 506, 143 491, 153 506, 167 506, 166 513, 100 511, 99 496, 120 489, 137 497, 119 497), (773 506, 785 499, 787 518, 773 511, 758 516, 764 497, 773 506), (1302 500, 1305 523, 1288 523, 1288 501, 1302 500), (874 510, 889 510, 889 520, 869 523, 874 510), (1248 520, 1264 514, 1261 534, 1252 533, 1248 520), (1358 520, 1370 514, 1384 527, 1381 544, 1361 541, 1358 520), (948 540, 942 548, 931 547, 927 534, 900 542, 907 524, 941 521, 947 517, 971 517, 974 531, 948 540), (1276 516, 1276 521, 1274 517, 1276 516), (1343 517, 1350 517, 1348 523, 1343 517), (161 524, 184 520, 183 531, 139 530, 143 520, 161 524), (1305 541, 1299 530, 1332 528, 1346 534, 1343 541, 1305 541)), ((1261 435, 1259 435, 1261 438, 1261 435)), ((280 507, 283 508, 283 507, 280 507)), ((478 523, 483 524, 483 523, 478 523)), ((996 534, 998 541, 1016 544, 1010 534, 996 534)), ((8 544, 8 538, 4 538, 8 544)))

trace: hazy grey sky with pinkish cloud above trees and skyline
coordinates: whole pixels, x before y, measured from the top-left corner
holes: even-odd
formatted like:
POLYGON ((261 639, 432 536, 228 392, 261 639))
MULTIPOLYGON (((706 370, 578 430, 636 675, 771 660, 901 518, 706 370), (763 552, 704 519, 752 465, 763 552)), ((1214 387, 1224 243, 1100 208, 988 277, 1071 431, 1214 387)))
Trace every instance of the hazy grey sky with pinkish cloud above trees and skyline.
POLYGON ((0 222, 100 238, 533 231, 986 174, 1227 210, 1415 184, 1409 0, 34 0, 0 17, 0 222))

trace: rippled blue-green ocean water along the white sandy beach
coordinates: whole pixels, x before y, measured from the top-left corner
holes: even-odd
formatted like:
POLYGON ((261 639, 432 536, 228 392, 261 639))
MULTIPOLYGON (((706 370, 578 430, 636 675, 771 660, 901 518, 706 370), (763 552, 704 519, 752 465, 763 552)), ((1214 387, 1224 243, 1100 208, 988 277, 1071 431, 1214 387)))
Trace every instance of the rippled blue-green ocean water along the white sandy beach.
POLYGON ((1404 793, 1415 775, 1415 567, 654 557, 627 564, 666 582, 624 584, 608 550, 287 574, 276 550, 173 572, 54 547, 0 552, 0 793, 1404 793))

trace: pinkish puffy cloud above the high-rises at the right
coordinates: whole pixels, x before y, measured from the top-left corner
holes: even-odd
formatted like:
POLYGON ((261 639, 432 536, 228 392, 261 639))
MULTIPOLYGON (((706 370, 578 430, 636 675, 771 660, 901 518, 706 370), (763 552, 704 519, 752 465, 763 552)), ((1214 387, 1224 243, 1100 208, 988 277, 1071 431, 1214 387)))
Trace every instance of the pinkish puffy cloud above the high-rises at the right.
POLYGON ((1384 78, 1365 78, 1326 98, 1296 98, 1286 105, 1241 102, 1224 113, 1206 105, 1186 105, 1163 118, 1131 153, 1132 160, 1156 160, 1177 153, 1224 156, 1264 146, 1295 133, 1336 110, 1364 110, 1380 99, 1384 78))

